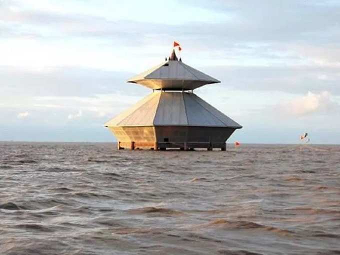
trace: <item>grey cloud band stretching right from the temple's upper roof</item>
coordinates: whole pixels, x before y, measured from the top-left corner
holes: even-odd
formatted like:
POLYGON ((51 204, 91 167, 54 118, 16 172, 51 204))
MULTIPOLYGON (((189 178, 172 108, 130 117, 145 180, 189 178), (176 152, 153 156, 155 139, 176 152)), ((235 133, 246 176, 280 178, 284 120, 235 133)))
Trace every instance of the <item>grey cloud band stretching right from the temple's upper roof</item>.
POLYGON ((335 67, 315 66, 209 66, 201 69, 222 82, 215 86, 246 91, 328 91, 340 94, 340 72, 335 67))

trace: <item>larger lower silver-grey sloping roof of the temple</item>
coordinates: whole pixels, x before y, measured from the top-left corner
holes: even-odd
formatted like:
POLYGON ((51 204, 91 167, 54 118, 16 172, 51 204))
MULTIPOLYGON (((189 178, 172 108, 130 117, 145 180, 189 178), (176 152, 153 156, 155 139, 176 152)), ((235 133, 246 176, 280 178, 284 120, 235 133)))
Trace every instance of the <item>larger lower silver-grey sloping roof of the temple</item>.
POLYGON ((189 125, 241 128, 194 93, 155 91, 105 126, 189 125))

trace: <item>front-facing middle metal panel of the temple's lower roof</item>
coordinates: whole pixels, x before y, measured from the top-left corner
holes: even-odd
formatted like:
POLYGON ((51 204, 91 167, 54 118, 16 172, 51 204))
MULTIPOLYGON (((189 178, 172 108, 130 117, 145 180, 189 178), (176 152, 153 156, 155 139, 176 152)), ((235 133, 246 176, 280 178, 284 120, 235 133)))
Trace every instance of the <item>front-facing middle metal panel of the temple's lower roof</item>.
POLYGON ((162 92, 153 121, 154 125, 187 125, 183 94, 162 92))

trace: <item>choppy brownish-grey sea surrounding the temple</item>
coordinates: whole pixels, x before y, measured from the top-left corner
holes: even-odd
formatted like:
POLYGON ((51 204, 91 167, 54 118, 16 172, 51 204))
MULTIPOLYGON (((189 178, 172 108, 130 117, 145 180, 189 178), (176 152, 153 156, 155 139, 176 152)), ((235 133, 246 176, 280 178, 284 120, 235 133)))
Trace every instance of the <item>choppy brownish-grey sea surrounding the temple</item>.
POLYGON ((0 254, 340 254, 340 145, 0 142, 0 254))

